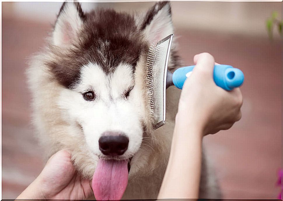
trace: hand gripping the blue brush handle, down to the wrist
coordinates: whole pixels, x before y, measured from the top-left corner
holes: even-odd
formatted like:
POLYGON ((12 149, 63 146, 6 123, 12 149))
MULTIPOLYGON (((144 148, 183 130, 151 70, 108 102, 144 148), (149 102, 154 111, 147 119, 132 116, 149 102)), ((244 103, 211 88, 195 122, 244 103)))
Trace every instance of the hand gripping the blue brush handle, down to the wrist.
POLYGON ((194 56, 195 67, 186 79, 179 100, 176 122, 198 127, 203 135, 227 130, 241 119, 242 93, 226 91, 213 80, 214 58, 209 53, 194 56))

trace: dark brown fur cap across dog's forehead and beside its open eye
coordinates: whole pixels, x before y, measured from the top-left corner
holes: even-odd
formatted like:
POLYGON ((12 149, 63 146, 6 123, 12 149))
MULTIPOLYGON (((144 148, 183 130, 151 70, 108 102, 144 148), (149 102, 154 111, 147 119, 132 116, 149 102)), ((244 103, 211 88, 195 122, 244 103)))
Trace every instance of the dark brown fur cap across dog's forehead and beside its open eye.
POLYGON ((96 63, 104 73, 113 74, 120 63, 135 71, 148 42, 135 24, 134 17, 112 10, 85 13, 85 20, 72 48, 51 48, 54 58, 46 64, 56 79, 67 88, 80 80, 81 68, 96 63))

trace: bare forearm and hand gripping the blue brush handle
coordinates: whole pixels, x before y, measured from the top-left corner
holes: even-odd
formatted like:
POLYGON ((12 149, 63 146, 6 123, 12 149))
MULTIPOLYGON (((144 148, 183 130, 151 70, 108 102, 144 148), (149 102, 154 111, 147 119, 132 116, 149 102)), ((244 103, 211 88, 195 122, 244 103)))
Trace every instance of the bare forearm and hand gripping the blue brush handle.
POLYGON ((158 195, 161 198, 198 198, 202 137, 226 130, 241 118, 240 89, 225 91, 213 80, 214 58, 194 57, 195 68, 184 83, 170 157, 158 195))

